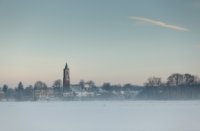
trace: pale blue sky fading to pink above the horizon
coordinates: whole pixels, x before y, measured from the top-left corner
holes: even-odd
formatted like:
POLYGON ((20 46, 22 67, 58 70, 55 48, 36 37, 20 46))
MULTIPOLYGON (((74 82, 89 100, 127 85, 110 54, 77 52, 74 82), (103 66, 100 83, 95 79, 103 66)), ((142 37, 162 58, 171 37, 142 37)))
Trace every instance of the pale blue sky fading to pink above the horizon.
POLYGON ((200 0, 0 0, 0 86, 200 76, 200 0))

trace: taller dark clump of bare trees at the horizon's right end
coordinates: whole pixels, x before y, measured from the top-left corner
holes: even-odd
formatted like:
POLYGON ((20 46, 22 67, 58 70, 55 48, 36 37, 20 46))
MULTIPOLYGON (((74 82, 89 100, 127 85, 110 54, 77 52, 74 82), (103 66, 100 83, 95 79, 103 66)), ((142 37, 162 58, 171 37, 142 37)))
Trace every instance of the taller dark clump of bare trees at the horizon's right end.
POLYGON ((166 82, 159 77, 151 77, 138 99, 189 100, 200 99, 200 80, 191 74, 171 74, 166 82))

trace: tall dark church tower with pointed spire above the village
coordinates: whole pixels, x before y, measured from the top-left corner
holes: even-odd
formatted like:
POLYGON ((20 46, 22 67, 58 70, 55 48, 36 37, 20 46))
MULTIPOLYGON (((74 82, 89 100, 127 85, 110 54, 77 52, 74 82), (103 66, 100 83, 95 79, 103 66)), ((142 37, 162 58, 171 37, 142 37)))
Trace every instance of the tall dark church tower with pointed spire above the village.
POLYGON ((70 77, 69 77, 69 68, 66 63, 63 70, 63 92, 70 91, 70 77))

